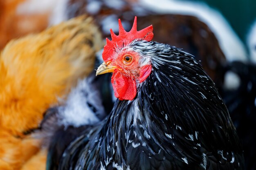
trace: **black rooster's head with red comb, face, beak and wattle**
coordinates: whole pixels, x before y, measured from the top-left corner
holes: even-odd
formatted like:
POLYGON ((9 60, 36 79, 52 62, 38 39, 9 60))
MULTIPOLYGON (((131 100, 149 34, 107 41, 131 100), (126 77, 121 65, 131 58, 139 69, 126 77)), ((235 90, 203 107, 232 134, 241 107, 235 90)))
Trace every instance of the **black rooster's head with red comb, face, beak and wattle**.
POLYGON ((119 35, 115 35, 112 29, 110 33, 112 40, 106 38, 107 44, 102 53, 104 62, 97 69, 96 75, 113 73, 111 82, 115 97, 119 100, 132 100, 136 96, 137 86, 150 75, 152 66, 149 57, 132 50, 129 44, 133 41, 151 41, 153 26, 137 31, 135 17, 132 29, 126 32, 119 19, 119 35))

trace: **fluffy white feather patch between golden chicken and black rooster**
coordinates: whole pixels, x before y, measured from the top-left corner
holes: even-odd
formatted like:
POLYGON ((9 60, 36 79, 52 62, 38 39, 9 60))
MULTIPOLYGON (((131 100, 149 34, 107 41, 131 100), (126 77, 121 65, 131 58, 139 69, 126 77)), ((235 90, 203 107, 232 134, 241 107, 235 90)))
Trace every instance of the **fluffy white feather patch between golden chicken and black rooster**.
POLYGON ((104 113, 98 91, 90 85, 90 80, 84 79, 71 91, 66 104, 58 108, 60 123, 64 126, 78 127, 98 122, 99 118, 88 106, 88 102, 97 107, 99 114, 104 113))

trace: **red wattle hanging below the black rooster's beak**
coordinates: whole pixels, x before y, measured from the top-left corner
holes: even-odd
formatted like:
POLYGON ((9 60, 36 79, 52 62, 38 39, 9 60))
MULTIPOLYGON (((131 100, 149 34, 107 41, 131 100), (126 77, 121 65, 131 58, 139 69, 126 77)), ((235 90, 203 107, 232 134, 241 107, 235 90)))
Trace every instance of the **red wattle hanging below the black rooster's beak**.
POLYGON ((119 72, 114 72, 111 83, 115 92, 115 97, 119 100, 133 100, 137 93, 136 81, 128 78, 119 72))

